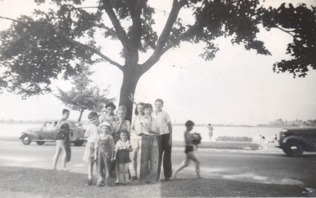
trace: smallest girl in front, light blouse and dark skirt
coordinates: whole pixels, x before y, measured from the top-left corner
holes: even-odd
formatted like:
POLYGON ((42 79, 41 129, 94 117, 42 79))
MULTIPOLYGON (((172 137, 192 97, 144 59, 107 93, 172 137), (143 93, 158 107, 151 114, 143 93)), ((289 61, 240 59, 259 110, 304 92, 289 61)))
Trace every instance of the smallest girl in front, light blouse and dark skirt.
POLYGON ((129 132, 127 130, 121 130, 120 140, 117 141, 114 148, 114 158, 118 164, 119 177, 115 181, 115 184, 127 183, 129 181, 129 163, 130 152, 132 148, 130 146, 130 141, 128 140, 129 132))

